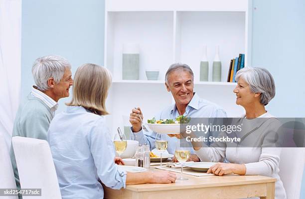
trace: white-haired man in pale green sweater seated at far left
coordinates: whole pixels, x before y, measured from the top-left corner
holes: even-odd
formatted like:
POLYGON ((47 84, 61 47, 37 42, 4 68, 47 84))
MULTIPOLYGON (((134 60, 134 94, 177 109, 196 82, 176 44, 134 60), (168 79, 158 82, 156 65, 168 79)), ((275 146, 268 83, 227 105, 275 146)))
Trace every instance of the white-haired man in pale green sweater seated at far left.
MULTIPOLYGON (((36 59, 32 67, 36 85, 16 113, 12 136, 47 139, 47 131, 58 107, 60 98, 69 96, 73 85, 71 64, 60 56, 44 56, 36 59)), ((13 148, 10 158, 17 188, 20 189, 18 170, 13 148)), ((19 196, 21 198, 21 196, 19 196)))

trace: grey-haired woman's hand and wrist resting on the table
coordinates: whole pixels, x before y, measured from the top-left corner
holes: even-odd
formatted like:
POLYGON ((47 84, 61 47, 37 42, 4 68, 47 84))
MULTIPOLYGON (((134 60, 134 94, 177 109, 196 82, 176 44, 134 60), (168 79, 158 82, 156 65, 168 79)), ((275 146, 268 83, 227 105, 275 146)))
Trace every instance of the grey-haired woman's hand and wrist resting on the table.
POLYGON ((218 162, 211 166, 206 172, 207 174, 213 173, 217 176, 223 176, 224 174, 246 174, 246 166, 244 164, 232 164, 232 163, 222 163, 218 162))

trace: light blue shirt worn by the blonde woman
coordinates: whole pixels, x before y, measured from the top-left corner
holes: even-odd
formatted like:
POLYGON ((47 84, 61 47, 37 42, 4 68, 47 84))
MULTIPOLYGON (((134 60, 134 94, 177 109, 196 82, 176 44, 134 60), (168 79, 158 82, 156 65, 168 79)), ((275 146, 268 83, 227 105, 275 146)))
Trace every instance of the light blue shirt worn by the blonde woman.
POLYGON ((114 163, 115 149, 105 119, 81 106, 67 107, 50 124, 51 148, 62 199, 103 199, 101 182, 126 186, 125 171, 114 163))

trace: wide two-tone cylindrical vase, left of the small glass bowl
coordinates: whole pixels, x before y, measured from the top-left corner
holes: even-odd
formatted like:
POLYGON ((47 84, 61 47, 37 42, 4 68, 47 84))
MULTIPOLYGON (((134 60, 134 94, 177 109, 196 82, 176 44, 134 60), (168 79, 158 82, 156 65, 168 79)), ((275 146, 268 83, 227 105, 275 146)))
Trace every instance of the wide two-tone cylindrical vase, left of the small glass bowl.
POLYGON ((122 78, 139 79, 140 50, 138 44, 123 45, 122 78))

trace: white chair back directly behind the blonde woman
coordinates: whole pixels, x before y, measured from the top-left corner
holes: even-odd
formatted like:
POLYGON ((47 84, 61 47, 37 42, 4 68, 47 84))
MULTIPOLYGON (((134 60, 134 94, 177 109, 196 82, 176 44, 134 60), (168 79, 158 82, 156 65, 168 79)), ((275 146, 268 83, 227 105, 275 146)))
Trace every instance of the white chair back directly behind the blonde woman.
POLYGON ((23 199, 61 199, 55 166, 47 141, 15 136, 12 145, 22 189, 41 189, 41 197, 23 199))

